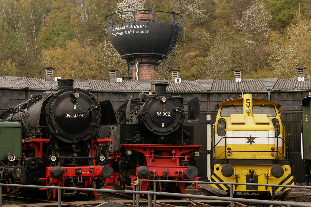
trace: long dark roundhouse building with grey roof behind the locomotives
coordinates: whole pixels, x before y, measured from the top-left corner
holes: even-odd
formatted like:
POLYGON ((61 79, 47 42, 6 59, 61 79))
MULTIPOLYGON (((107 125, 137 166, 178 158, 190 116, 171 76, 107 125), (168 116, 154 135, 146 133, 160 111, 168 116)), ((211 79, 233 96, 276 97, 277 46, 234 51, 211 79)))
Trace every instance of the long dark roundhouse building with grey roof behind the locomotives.
MULTIPOLYGON (((154 91, 154 80, 123 80, 115 82, 115 76, 110 80, 75 79, 74 87, 92 92, 98 101, 109 99, 114 110, 125 103, 131 95, 138 98, 140 92, 154 91)), ((311 91, 311 78, 298 82, 297 79, 253 79, 242 80, 184 80, 181 83, 167 81, 169 94, 183 96, 185 101, 198 97, 201 104, 201 117, 198 124, 194 124, 194 144, 202 145, 200 157, 197 160, 199 176, 202 181, 209 179, 208 144, 211 140, 211 128, 215 124, 215 105, 230 98, 237 98, 242 92, 253 94, 253 97, 270 99, 282 105, 282 123, 285 134, 290 134, 290 147, 293 149, 295 182, 307 182, 304 176, 304 163, 301 160, 301 99, 311 91)), ((57 90, 57 82, 52 77, 23 78, 0 77, 0 111, 13 108, 28 100, 31 96, 43 91, 57 90)), ((187 111, 187 109, 186 109, 187 111)), ((102 133, 107 134, 104 129, 102 133)))

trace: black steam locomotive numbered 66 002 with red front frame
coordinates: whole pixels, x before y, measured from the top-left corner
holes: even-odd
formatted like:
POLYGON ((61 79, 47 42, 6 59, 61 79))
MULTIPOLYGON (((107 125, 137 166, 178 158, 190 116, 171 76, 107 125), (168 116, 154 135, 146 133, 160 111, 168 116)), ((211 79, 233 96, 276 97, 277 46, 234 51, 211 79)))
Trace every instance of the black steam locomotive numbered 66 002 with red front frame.
MULTIPOLYGON (((140 93, 116 111, 118 126, 111 131, 109 165, 114 169, 106 183, 132 188, 136 179, 198 180, 195 160, 201 146, 193 145, 193 127, 199 121, 198 98, 166 94, 169 83, 156 82, 156 94, 140 93), (184 106, 188 105, 185 121, 184 106)), ((109 186, 107 186, 109 187, 109 186)), ((153 182, 143 182, 140 190, 153 190, 153 182)), ((184 183, 159 183, 158 191, 184 193, 184 183)))

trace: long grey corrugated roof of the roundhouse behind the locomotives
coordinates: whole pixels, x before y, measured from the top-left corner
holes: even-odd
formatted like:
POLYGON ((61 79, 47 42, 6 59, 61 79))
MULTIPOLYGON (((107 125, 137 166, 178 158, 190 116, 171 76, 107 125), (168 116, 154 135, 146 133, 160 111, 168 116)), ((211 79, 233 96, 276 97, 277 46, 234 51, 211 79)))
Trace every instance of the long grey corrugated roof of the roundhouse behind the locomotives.
MULTIPOLYGON (((147 92, 154 91, 153 80, 123 80, 122 83, 110 83, 109 80, 75 79, 74 87, 100 92, 147 92)), ((304 90, 311 91, 311 78, 298 82, 297 79, 253 79, 242 80, 182 80, 181 83, 166 81, 170 85, 168 92, 266 92, 304 90)), ((44 78, 23 78, 0 76, 0 88, 26 90, 57 90, 57 82, 44 78)))

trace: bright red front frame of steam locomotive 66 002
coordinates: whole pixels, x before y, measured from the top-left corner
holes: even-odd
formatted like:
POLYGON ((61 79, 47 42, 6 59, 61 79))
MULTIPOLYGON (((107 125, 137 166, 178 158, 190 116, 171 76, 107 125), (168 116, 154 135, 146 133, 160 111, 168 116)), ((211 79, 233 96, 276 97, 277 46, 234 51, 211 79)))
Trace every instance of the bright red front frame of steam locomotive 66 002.
MULTIPOLYGON (((185 180, 185 181, 198 181, 200 177, 194 179, 186 178, 186 170, 189 166, 180 166, 179 161, 188 161, 191 160, 190 157, 192 151, 198 150, 200 145, 145 145, 145 144, 122 144, 121 148, 138 151, 144 154, 145 160, 144 164, 149 168, 150 175, 149 179, 161 180, 185 180), (162 155, 153 155, 155 151, 162 151, 162 155), (188 154, 187 154, 188 153, 188 154), (182 154, 186 154, 182 156, 182 154)), ((110 153, 109 154, 109 164, 116 163, 120 158, 121 153, 110 153)), ((196 159, 196 157, 193 157, 196 159)), ((136 176, 130 177, 131 183, 134 183, 135 180, 141 179, 137 174, 137 169, 140 166, 136 167, 136 176)), ((119 181, 119 173, 114 172, 111 178, 106 179, 106 183, 119 183, 120 186, 123 184, 119 181)), ((153 185, 151 182, 142 182, 140 185, 141 191, 147 191, 148 187, 153 185)), ((123 185, 125 188, 133 188, 133 186, 123 185)), ((178 184, 180 193, 185 192, 185 183, 178 184)), ((106 184, 106 187, 112 187, 106 184)), ((198 185, 195 185, 196 188, 199 188, 198 185)))

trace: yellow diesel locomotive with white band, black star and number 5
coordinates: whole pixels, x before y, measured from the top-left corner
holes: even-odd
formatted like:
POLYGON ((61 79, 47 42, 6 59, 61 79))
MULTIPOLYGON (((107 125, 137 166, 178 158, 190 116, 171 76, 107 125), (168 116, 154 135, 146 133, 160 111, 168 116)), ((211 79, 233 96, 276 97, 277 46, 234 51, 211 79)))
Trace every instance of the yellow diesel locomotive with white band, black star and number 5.
MULTIPOLYGON (((280 104, 252 94, 223 101, 213 125, 211 181, 295 185, 284 141, 280 104)), ((230 185, 212 184, 220 190, 230 185)), ((290 188, 235 185, 236 192, 270 193, 290 188)))

